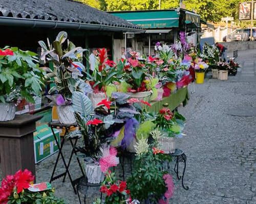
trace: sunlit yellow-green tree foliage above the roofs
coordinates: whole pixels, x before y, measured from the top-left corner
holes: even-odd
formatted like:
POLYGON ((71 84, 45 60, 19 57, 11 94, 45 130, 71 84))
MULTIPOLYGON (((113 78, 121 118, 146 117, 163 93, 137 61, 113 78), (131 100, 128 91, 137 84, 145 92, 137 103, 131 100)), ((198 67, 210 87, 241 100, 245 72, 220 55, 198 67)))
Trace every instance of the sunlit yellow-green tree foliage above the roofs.
MULTIPOLYGON (((77 0, 103 11, 130 11, 159 9, 159 0, 77 0)), ((238 19, 238 4, 244 0, 183 0, 187 10, 193 10, 208 21, 220 21, 230 16, 238 19)), ((179 0, 161 0, 161 9, 179 7, 179 0)))

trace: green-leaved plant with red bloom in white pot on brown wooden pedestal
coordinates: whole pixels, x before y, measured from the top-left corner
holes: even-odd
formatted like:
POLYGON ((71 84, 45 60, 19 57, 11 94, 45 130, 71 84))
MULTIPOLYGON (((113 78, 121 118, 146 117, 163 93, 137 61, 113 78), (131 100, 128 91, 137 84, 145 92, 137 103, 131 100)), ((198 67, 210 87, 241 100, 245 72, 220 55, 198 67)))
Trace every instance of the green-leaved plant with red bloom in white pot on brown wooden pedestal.
POLYGON ((14 119, 17 99, 34 103, 33 95, 40 96, 44 86, 43 75, 35 53, 17 47, 0 49, 0 121, 14 119))

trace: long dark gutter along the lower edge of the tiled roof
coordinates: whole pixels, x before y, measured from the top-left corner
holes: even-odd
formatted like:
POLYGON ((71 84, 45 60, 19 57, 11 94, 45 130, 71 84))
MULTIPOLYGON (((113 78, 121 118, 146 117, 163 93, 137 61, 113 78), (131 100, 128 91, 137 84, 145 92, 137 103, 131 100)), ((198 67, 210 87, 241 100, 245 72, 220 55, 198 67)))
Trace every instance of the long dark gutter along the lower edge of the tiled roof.
POLYGON ((15 18, 15 17, 0 17, 0 25, 29 27, 29 28, 49 28, 49 29, 75 29, 75 30, 97 30, 97 31, 112 31, 112 32, 136 32, 144 33, 145 30, 115 27, 104 24, 90 24, 81 22, 67 22, 55 20, 41 20, 30 18, 15 18))

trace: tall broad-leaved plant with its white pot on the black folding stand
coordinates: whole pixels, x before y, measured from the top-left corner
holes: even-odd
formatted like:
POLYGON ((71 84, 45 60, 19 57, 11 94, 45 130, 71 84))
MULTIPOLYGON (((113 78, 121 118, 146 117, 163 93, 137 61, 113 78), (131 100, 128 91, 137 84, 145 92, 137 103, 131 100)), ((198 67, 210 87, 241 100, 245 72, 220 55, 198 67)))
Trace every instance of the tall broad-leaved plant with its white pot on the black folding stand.
POLYGON ((89 85, 81 80, 84 66, 80 61, 86 49, 76 47, 67 39, 68 34, 62 31, 48 46, 44 41, 38 42, 41 46, 40 60, 50 66, 46 69, 49 72, 46 79, 55 83, 48 92, 49 98, 53 101, 52 104, 57 106, 59 121, 63 124, 76 121, 71 106, 72 93, 77 90, 85 93, 89 90, 89 85))

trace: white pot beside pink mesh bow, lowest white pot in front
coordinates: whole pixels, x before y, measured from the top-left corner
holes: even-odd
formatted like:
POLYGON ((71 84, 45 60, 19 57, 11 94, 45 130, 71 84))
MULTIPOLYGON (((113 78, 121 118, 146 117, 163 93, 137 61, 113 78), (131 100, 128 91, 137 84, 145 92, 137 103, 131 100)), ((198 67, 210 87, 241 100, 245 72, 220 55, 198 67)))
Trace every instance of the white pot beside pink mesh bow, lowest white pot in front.
POLYGON ((98 163, 84 161, 84 170, 86 171, 88 183, 100 184, 103 182, 104 173, 101 171, 98 163))

